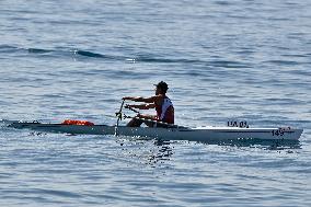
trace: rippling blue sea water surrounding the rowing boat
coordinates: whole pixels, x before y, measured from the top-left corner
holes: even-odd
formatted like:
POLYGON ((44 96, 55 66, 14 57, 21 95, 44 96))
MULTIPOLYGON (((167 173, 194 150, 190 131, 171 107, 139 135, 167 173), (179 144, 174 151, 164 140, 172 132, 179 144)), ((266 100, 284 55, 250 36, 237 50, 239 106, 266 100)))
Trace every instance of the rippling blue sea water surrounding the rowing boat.
POLYGON ((310 11, 308 0, 1 0, 0 119, 114 125, 123 96, 164 80, 178 125, 304 131, 290 146, 209 145, 2 123, 0 206, 311 206, 310 11))

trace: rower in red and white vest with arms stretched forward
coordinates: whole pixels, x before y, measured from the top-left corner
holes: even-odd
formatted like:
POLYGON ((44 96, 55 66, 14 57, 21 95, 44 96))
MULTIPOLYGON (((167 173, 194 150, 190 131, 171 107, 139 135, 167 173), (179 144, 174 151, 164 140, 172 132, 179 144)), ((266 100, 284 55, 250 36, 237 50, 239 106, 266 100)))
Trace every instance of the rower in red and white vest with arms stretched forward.
POLYGON ((165 127, 168 124, 174 124, 174 106, 170 97, 166 96, 168 84, 163 81, 156 85, 156 95, 151 97, 125 96, 123 100, 134 102, 143 102, 145 104, 127 104, 127 108, 150 110, 156 108, 157 115, 138 114, 127 126, 139 127, 145 123, 149 127, 165 127))

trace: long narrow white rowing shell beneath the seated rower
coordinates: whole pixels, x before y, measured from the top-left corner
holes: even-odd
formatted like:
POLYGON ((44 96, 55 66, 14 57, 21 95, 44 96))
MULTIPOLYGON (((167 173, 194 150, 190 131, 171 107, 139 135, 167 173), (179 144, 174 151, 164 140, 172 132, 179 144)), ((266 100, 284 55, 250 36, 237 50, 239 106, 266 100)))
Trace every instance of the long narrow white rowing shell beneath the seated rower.
MULTIPOLYGON (((107 125, 65 125, 65 124, 42 124, 42 123, 12 123, 9 127, 18 129, 32 129, 36 131, 65 133, 73 135, 114 135, 115 126, 107 125)), ((149 137, 161 140, 234 140, 234 139, 264 139, 264 140, 298 140, 302 129, 284 128, 238 128, 238 127, 118 127, 118 135, 131 137, 149 137)))

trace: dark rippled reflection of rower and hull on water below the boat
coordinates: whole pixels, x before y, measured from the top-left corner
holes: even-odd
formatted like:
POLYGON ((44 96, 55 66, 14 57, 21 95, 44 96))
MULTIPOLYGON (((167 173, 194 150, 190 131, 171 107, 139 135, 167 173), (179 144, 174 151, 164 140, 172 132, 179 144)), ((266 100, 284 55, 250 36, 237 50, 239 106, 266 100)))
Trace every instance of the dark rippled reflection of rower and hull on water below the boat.
POLYGON ((263 139, 239 139, 226 141, 177 141, 177 140, 159 140, 147 138, 123 138, 117 142, 123 147, 126 157, 135 158, 133 162, 140 162, 150 165, 151 168, 159 166, 159 164, 166 164, 173 160, 175 151, 181 145, 216 145, 221 147, 234 148, 250 148, 261 150, 283 151, 286 153, 293 153, 296 149, 301 149, 299 140, 263 140, 263 139))

